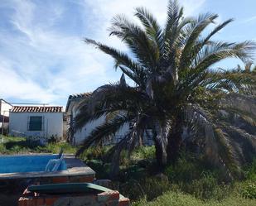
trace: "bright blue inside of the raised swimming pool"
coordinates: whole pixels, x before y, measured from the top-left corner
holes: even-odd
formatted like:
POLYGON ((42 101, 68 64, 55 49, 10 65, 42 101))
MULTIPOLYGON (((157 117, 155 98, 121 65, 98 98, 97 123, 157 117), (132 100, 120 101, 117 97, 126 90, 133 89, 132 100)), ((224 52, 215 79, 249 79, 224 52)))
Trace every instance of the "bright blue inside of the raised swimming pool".
MULTIPOLYGON (((58 158, 58 155, 0 156, 0 173, 45 171, 49 160, 58 158)), ((57 170, 66 170, 65 160, 57 170)))

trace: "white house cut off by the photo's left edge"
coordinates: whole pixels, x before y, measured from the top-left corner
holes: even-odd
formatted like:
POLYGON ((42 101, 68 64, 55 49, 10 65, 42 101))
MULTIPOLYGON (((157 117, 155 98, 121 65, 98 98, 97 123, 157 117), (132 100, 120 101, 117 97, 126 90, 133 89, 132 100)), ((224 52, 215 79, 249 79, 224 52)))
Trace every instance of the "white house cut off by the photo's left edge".
POLYGON ((12 109, 12 104, 7 103, 0 98, 0 133, 7 132, 9 124, 9 111, 12 109))

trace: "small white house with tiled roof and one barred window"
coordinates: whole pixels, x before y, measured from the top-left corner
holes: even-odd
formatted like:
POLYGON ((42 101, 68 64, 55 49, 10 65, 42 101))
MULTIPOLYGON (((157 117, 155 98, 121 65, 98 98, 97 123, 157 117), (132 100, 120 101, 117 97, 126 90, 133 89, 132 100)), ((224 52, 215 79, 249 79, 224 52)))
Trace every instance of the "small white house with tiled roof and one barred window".
POLYGON ((22 137, 62 138, 62 107, 14 106, 10 111, 9 133, 22 137))

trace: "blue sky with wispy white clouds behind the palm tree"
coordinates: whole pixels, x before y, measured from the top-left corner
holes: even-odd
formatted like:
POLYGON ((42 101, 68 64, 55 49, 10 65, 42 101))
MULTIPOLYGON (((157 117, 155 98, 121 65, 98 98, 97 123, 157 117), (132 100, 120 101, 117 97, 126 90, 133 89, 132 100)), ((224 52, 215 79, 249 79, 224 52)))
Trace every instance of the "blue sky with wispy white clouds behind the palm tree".
MULTIPOLYGON (((181 0, 186 15, 215 12, 218 22, 234 22, 217 39, 256 41, 256 1, 181 0)), ((113 60, 91 46, 93 38, 125 50, 108 36, 111 18, 133 17, 134 7, 145 6, 164 23, 167 0, 1 0, 0 98, 9 102, 50 103, 65 106, 72 93, 93 91, 119 79, 113 60)), ((226 69, 241 64, 225 60, 226 69)))

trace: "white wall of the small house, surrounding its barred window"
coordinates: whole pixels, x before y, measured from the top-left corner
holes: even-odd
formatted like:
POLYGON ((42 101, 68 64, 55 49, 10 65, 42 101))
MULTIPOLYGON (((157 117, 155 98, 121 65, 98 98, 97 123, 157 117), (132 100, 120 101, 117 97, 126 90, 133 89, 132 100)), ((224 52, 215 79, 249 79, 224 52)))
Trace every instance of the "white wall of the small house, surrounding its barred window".
POLYGON ((58 137, 63 136, 63 113, 10 113, 9 132, 12 136, 58 137), (43 117, 42 131, 28 131, 31 116, 43 117))

